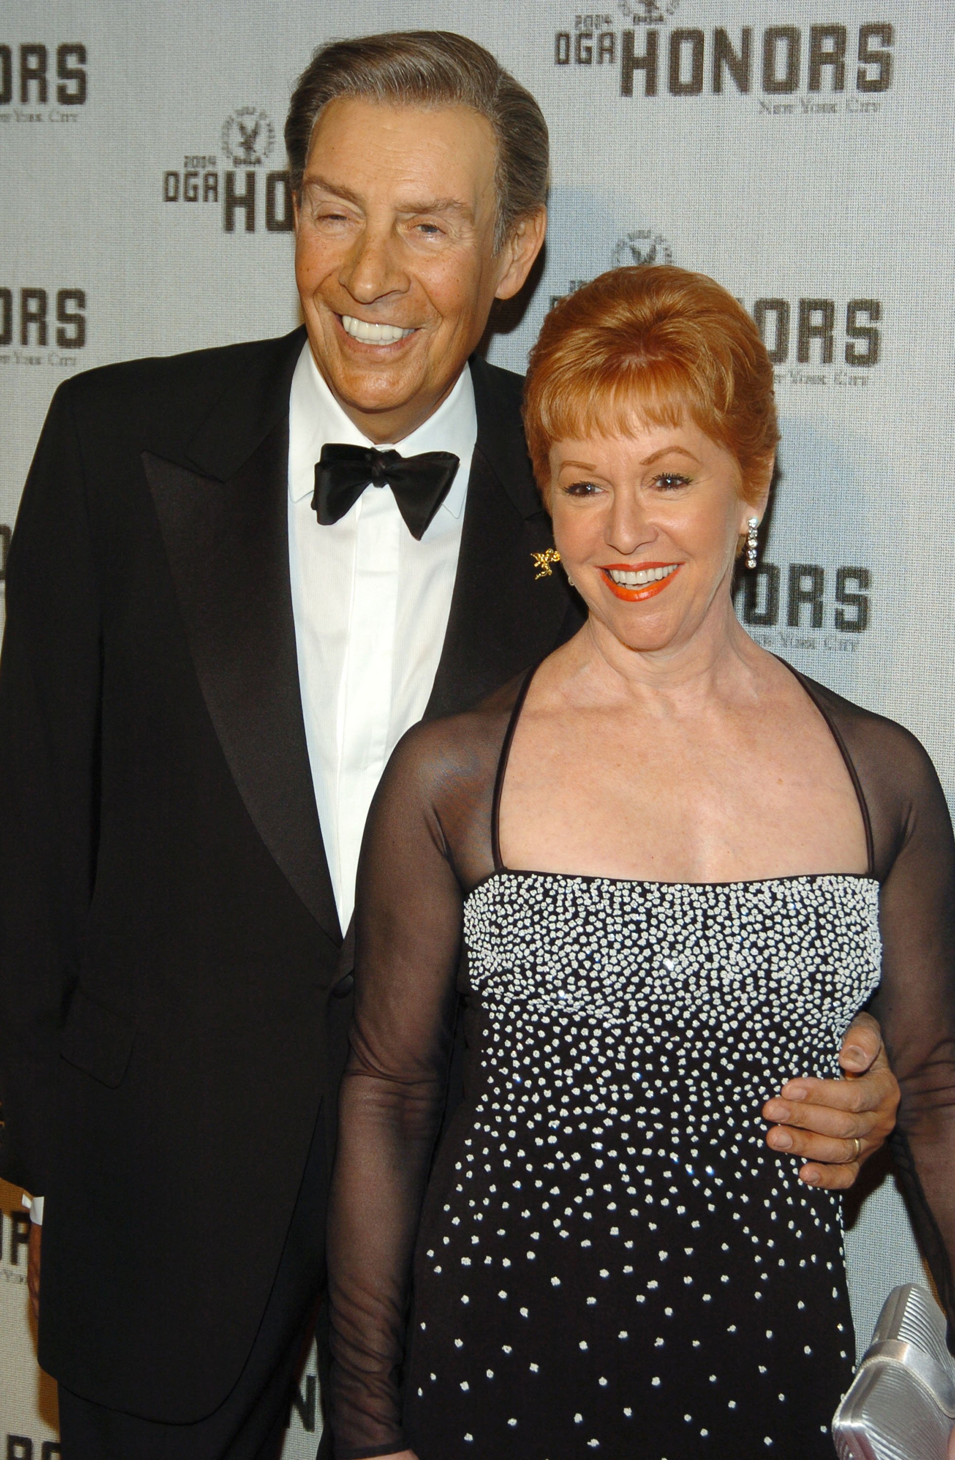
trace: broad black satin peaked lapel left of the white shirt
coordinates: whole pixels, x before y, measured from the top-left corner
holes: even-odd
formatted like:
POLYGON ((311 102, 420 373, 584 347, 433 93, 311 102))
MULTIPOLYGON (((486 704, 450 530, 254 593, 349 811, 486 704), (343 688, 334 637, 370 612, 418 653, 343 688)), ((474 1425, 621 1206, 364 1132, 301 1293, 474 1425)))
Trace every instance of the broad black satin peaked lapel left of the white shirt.
POLYGON ((289 587, 287 418, 226 480, 143 466, 216 734, 258 834, 341 942, 305 740, 289 587))

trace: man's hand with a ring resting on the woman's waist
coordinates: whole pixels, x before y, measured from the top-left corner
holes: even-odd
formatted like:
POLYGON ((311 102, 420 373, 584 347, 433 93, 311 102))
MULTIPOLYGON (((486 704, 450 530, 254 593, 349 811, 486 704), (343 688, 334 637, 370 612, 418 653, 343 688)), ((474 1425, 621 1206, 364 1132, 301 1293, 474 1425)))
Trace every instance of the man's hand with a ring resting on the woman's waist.
POLYGON ((830 1191, 850 1187, 862 1162, 885 1142, 895 1126, 898 1082, 882 1044, 882 1031, 868 1013, 859 1013, 843 1040, 841 1080, 808 1076, 789 1080, 780 1095, 763 1107, 773 1121, 765 1140, 773 1150, 806 1156, 799 1178, 830 1191))

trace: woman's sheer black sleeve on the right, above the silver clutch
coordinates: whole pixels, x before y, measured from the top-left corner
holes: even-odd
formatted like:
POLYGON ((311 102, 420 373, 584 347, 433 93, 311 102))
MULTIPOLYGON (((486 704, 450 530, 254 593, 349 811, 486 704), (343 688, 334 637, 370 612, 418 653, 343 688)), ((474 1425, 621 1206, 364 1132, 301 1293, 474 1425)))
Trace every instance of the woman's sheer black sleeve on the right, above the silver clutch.
MULTIPOLYGON (((835 724, 869 807, 882 885, 872 1013, 903 1098, 892 1153, 955 1339, 955 842, 945 794, 901 726, 808 686, 835 724)), ((886 1292, 888 1296, 888 1292, 886 1292)), ((954 1349, 955 1350, 955 1349, 954 1349)))

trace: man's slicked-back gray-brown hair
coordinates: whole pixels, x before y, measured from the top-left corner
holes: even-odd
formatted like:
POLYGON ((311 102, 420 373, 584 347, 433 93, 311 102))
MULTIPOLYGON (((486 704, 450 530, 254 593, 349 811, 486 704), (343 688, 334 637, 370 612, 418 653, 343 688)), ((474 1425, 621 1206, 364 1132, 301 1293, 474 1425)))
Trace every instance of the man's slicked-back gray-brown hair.
POLYGON ((315 123, 338 96, 411 107, 471 107, 497 139, 500 250, 515 225, 547 200, 547 123, 531 92, 490 51, 451 31, 392 31, 318 48, 296 83, 286 120, 292 191, 302 175, 315 123))

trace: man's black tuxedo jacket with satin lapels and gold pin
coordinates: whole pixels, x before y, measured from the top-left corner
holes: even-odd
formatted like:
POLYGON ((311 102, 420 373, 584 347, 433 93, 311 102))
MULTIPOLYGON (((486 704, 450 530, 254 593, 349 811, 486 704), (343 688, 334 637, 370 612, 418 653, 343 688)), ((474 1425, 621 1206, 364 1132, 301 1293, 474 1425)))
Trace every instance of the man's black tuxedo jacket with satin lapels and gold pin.
MULTIPOLYGON (((239 1377, 347 1038, 289 588, 303 340, 64 384, 7 564, 0 1171, 47 1197, 44 1368, 171 1422, 239 1377)), ((429 715, 580 623, 563 575, 535 578, 521 380, 472 377, 429 715)))

